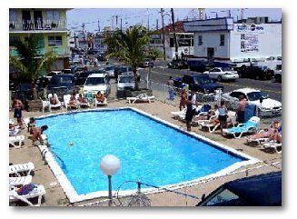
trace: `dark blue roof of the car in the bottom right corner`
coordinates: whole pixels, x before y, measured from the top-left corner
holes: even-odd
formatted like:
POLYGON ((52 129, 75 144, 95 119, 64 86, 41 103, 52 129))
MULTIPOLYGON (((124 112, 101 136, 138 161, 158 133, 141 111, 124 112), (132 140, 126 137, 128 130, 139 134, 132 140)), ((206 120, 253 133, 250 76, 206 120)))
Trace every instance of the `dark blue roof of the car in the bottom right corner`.
POLYGON ((282 205, 282 172, 251 176, 223 185, 234 194, 257 206, 282 205))

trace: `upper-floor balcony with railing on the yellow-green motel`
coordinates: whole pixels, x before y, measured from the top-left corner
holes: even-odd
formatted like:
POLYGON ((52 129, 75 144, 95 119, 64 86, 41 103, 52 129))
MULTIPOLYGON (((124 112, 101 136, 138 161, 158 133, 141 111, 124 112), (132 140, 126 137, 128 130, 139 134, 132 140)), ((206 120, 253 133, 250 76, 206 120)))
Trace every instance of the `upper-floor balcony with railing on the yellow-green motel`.
POLYGON ((21 22, 10 21, 9 31, 67 31, 66 20, 23 20, 21 22))

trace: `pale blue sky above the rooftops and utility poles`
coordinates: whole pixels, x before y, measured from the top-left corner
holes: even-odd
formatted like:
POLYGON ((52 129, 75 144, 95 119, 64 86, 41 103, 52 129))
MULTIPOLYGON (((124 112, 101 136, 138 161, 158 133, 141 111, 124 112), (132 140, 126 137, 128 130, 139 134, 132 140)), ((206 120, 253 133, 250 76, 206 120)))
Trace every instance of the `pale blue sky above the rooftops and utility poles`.
MULTIPOLYGON (((169 24, 171 21, 170 8, 164 8, 164 24, 169 24)), ((206 8, 207 17, 215 17, 228 15, 228 10, 231 10, 231 15, 236 19, 240 17, 241 11, 237 8, 206 8)), ((270 16, 273 20, 280 20, 282 17, 281 8, 245 8, 244 17, 247 16, 270 16)), ((187 16, 189 18, 197 17, 198 10, 196 8, 174 8, 175 20, 183 20, 187 16)), ((155 29, 158 19, 158 26, 161 27, 160 8, 74 8, 67 12, 68 27, 71 30, 81 30, 82 24, 85 23, 85 29, 93 32, 98 30, 98 21, 100 29, 104 26, 120 27, 122 18, 123 27, 129 25, 150 25, 150 28, 155 29)))

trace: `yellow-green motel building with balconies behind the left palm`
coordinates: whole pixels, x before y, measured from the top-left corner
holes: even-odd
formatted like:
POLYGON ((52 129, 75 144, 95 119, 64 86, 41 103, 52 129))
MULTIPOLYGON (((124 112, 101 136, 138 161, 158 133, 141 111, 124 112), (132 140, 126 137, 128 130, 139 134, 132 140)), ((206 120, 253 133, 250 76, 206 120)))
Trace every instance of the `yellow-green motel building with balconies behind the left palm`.
MULTIPOLYGON (((69 67, 69 47, 65 8, 11 8, 9 9, 9 55, 19 56, 14 41, 26 41, 29 35, 40 35, 38 55, 53 52, 59 56, 50 70, 69 67)), ((38 57, 36 57, 38 58, 38 57)), ((9 70, 12 78, 17 77, 13 66, 9 70)))

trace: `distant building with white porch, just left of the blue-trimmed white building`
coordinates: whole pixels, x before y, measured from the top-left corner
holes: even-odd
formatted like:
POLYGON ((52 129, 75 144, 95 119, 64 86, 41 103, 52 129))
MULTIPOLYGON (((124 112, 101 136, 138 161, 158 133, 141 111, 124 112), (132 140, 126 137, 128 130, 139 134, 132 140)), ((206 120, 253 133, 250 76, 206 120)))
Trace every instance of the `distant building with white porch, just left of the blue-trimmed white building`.
MULTIPOLYGON (((178 54, 193 55, 193 33, 185 33, 183 30, 183 22, 175 23, 175 33, 178 45, 178 54)), ((166 58, 173 59, 175 57, 173 25, 164 26, 165 39, 165 55, 166 58)), ((159 50, 163 54, 163 30, 156 30, 150 39, 150 47, 159 50)))

